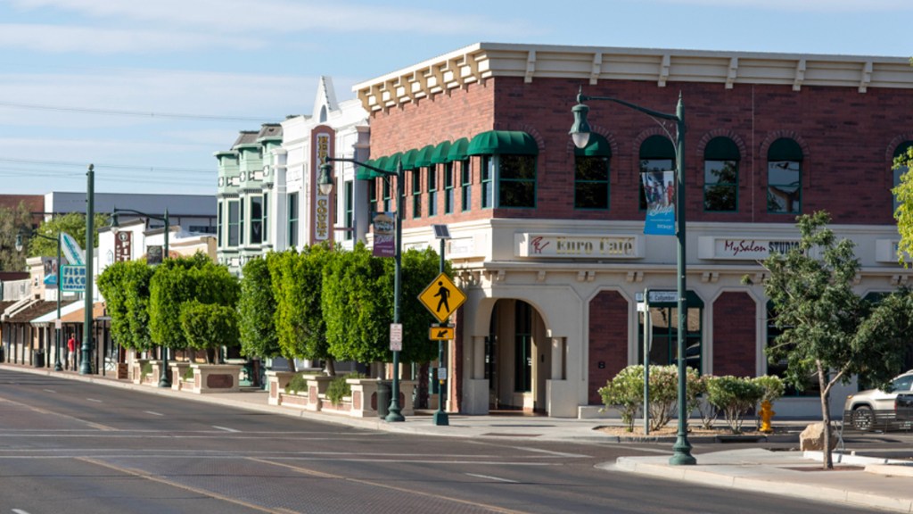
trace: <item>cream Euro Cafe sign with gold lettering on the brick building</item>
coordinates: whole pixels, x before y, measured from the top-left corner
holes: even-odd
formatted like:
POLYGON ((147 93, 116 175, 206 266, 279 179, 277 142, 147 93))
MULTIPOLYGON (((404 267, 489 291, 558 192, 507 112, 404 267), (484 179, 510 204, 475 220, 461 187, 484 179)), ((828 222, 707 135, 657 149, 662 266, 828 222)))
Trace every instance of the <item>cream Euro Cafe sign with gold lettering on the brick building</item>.
POLYGON ((640 259, 644 257, 644 238, 637 234, 519 233, 514 235, 514 255, 558 259, 640 259))

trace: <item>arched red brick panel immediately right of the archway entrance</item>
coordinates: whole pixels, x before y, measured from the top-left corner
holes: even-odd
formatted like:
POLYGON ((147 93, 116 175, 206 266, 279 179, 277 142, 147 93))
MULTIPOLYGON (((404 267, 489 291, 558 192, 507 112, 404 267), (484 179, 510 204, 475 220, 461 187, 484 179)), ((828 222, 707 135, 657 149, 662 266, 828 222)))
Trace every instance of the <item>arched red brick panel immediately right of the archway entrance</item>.
POLYGON ((591 404, 603 402, 599 388, 627 366, 628 305, 616 291, 603 291, 590 302, 589 392, 591 404))

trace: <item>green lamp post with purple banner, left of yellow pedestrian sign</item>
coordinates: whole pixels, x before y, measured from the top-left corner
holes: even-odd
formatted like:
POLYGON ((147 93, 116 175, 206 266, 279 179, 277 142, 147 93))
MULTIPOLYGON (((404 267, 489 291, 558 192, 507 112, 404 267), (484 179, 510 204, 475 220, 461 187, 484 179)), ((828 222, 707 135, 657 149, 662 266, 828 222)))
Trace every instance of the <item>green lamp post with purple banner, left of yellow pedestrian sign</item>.
MULTIPOLYGON (((333 189, 333 177, 332 177, 332 165, 331 162, 345 162, 352 163, 356 166, 362 166, 363 168, 370 169, 375 173, 383 175, 383 177, 396 177, 396 245, 394 252, 394 325, 400 323, 400 304, 401 304, 401 295, 402 295, 402 280, 403 280, 403 162, 396 162, 396 171, 387 171, 379 167, 374 167, 366 165, 362 162, 356 161, 355 159, 349 159, 344 157, 325 157, 324 164, 320 165, 320 192, 324 195, 329 195, 333 189)), ((405 418, 401 413, 401 408, 399 404, 399 350, 394 349, 394 383, 393 391, 391 391, 390 398, 390 409, 387 417, 384 418, 387 422, 403 422, 405 418)))

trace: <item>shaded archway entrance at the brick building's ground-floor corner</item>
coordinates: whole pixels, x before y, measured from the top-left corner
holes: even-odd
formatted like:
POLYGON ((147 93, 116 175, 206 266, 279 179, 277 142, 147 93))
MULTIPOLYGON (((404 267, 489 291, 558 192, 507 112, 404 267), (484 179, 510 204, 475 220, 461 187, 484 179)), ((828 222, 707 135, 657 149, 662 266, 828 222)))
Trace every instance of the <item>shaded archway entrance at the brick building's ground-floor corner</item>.
POLYGON ((545 412, 551 348, 545 323, 532 305, 498 300, 485 340, 485 378, 491 412, 545 412))

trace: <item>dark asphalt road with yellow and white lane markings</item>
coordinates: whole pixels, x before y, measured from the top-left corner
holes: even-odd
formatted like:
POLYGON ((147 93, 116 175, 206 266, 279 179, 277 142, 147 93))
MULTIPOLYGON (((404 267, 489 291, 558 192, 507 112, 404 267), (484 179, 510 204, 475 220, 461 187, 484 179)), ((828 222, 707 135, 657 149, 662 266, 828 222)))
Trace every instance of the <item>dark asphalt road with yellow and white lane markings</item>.
POLYGON ((0 369, 0 514, 866 512, 594 467, 668 452, 370 432, 0 369))

